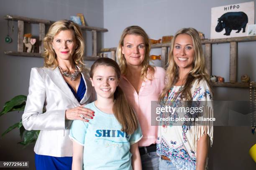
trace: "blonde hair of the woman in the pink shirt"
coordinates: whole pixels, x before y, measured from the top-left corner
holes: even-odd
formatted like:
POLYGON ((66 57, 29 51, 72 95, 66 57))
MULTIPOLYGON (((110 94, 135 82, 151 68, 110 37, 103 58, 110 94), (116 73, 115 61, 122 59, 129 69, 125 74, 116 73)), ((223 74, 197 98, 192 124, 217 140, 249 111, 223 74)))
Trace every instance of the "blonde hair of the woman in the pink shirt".
POLYGON ((122 75, 127 74, 127 63, 126 63, 124 55, 122 54, 123 40, 126 35, 140 35, 141 37, 143 37, 144 44, 145 44, 145 58, 142 62, 143 68, 141 70, 141 78, 142 79, 148 78, 149 80, 151 80, 151 78, 154 75, 155 69, 154 69, 154 66, 149 64, 149 62, 151 61, 151 58, 149 55, 151 47, 150 47, 148 35, 141 27, 136 26, 136 25, 125 28, 125 30, 123 30, 123 33, 122 33, 119 43, 118 43, 116 55, 118 57, 121 74, 122 75), (150 70, 151 77, 147 77, 148 69, 150 70))

